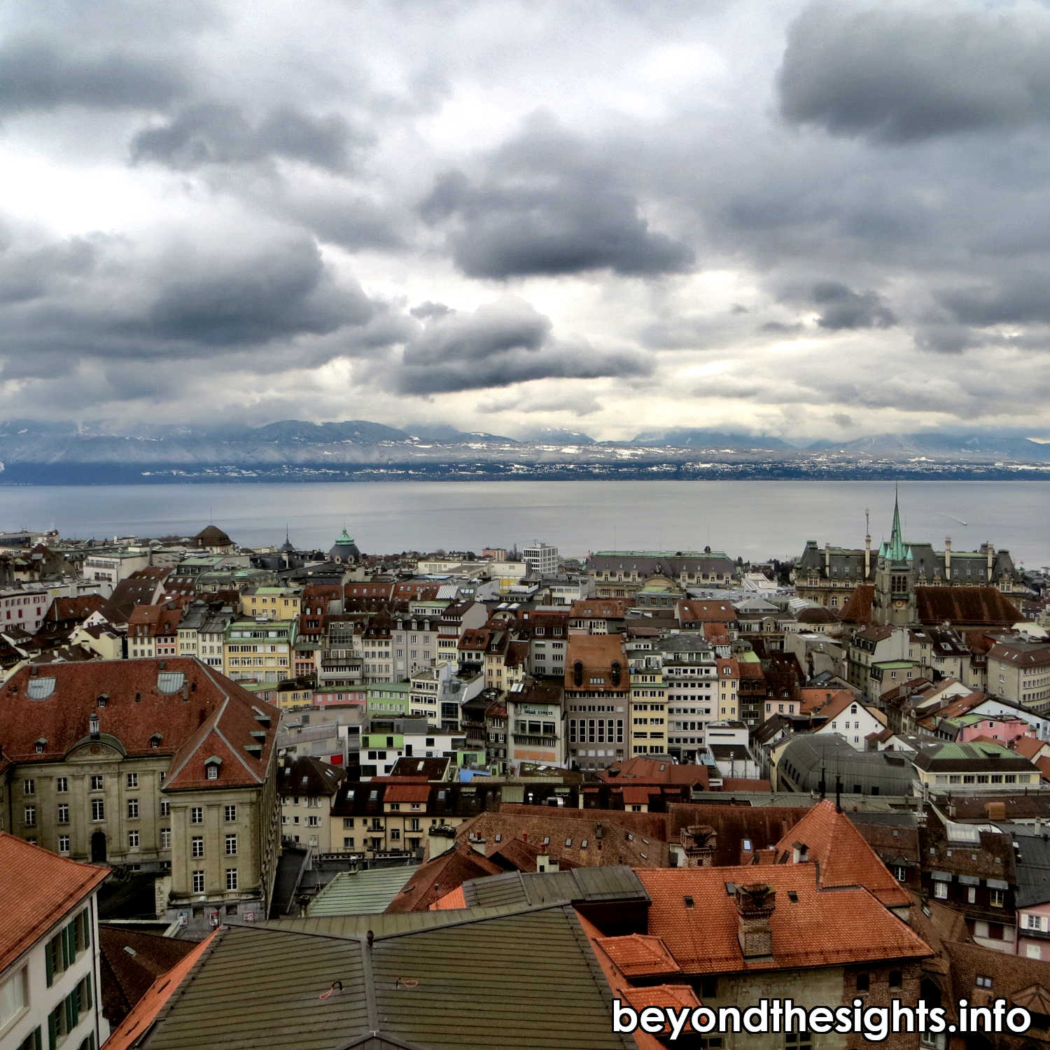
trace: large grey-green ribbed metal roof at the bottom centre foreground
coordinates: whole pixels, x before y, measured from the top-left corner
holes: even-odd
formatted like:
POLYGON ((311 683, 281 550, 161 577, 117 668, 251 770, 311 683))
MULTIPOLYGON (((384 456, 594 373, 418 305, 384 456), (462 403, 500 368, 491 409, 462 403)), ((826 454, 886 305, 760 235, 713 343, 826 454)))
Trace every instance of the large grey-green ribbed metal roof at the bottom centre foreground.
POLYGON ((306 920, 359 925, 348 937, 293 930, 299 920, 225 929, 140 1045, 634 1047, 610 1031, 610 989, 571 907, 443 916, 306 920))

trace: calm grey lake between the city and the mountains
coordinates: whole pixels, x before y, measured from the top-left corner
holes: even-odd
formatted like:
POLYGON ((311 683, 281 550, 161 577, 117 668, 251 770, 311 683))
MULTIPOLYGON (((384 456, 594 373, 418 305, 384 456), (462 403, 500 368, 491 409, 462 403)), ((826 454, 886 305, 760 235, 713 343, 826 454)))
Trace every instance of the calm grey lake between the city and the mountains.
MULTIPOLYGON (((1050 564, 1050 484, 901 484, 905 534, 957 550, 983 541, 1029 567, 1050 564), (965 523, 965 524, 964 524, 965 523)), ((888 537, 886 482, 521 481, 0 487, 0 529, 66 537, 191 536, 209 521, 245 546, 327 549, 345 526, 365 552, 522 545, 565 554, 603 548, 701 549, 795 556, 807 539, 862 546, 864 509, 888 537)))

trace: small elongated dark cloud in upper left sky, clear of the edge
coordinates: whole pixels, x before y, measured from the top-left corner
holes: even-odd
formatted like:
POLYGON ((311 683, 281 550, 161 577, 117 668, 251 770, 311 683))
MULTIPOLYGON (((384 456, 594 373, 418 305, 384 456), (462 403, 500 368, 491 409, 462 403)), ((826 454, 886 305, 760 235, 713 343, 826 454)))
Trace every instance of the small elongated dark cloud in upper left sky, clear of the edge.
POLYGON ((183 109, 161 127, 140 131, 132 140, 131 156, 184 171, 252 164, 271 156, 340 171, 362 141, 337 114, 314 118, 285 105, 253 125, 237 106, 208 102, 183 109))

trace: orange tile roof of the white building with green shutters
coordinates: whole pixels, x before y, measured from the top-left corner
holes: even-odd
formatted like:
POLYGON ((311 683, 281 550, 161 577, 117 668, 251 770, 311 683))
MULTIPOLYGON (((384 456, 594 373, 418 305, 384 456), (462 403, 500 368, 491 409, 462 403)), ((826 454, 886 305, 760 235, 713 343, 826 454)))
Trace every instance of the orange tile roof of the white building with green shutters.
POLYGON ((108 867, 81 864, 0 832, 0 973, 97 889, 108 867))

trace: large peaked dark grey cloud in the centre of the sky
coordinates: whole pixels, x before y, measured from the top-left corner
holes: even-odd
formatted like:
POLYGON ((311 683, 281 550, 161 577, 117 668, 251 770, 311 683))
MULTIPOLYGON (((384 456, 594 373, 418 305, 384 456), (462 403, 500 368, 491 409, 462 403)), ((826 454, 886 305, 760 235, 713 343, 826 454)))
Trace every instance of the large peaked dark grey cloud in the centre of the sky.
POLYGON ((693 261, 686 245, 650 229, 636 195, 616 184, 614 166, 588 156, 585 144, 546 118, 528 122, 485 169, 477 182, 445 173, 420 207, 429 223, 458 220, 449 245, 467 276, 655 276, 693 261))

